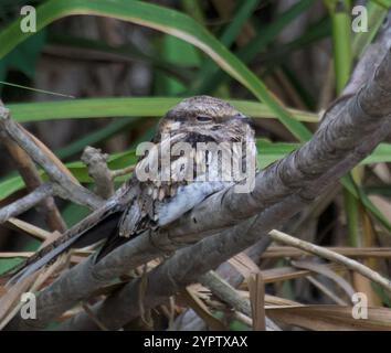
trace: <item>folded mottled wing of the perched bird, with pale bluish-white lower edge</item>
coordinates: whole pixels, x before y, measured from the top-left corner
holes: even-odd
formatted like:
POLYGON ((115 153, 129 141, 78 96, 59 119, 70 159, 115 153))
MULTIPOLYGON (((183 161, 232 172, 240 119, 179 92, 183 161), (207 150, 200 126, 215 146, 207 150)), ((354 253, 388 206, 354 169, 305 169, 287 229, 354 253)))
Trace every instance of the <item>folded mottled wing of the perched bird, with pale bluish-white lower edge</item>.
MULTIPOLYGON (((137 183, 138 171, 150 170, 152 165, 161 162, 159 151, 171 151, 177 142, 189 142, 193 148, 200 139, 202 137, 194 133, 180 132, 160 141, 156 150, 150 150, 138 161, 133 176, 134 183, 137 183)), ((128 242, 130 237, 178 220, 209 195, 232 184, 219 180, 203 182, 207 170, 205 161, 197 156, 194 149, 183 154, 170 153, 170 161, 159 164, 156 179, 138 182, 139 192, 123 213, 118 233, 113 233, 107 238, 96 260, 101 260, 116 247, 128 242)))

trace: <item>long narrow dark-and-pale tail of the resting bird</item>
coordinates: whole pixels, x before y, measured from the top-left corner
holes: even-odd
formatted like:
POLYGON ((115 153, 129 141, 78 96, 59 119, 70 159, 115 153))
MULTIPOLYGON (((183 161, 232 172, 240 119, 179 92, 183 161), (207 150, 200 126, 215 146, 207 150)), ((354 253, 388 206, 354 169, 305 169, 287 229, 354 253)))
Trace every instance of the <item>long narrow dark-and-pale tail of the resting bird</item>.
POLYGON ((60 238, 43 247, 22 264, 0 276, 7 286, 27 278, 70 248, 92 245, 116 232, 121 210, 115 203, 106 203, 82 222, 66 231, 60 238))

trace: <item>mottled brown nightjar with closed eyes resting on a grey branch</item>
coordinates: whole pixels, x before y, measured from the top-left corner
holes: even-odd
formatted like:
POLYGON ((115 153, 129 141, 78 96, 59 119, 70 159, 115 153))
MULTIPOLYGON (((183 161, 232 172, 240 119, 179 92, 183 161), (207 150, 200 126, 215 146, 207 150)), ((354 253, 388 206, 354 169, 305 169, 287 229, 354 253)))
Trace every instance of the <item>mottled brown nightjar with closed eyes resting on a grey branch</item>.
POLYGON ((133 176, 112 199, 8 272, 9 284, 70 248, 106 238, 96 256, 98 261, 129 238, 168 225, 209 195, 240 181, 226 165, 239 165, 243 171, 245 160, 255 161, 256 156, 250 119, 209 96, 187 98, 171 108, 160 119, 151 142, 152 147, 145 146, 151 148, 139 158, 133 176), (224 158, 231 158, 231 164, 224 164, 224 158))

